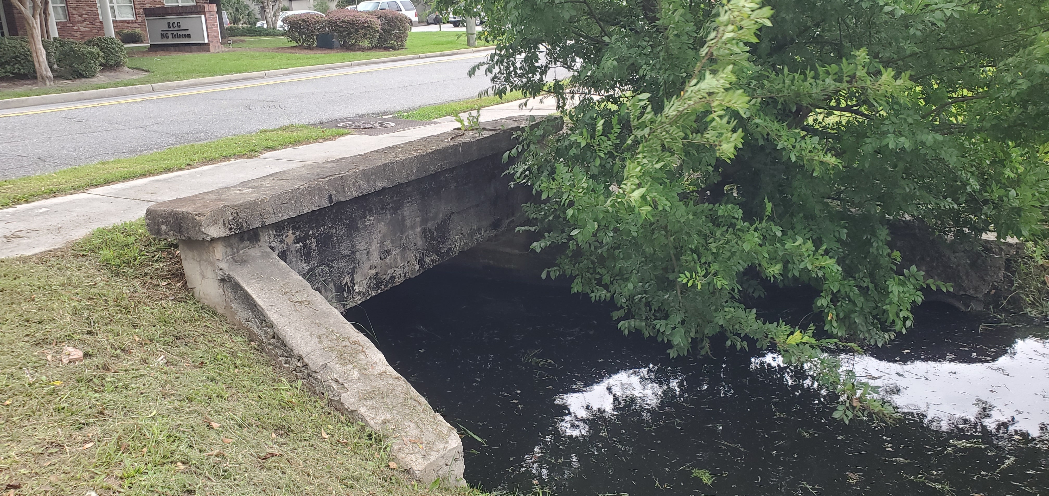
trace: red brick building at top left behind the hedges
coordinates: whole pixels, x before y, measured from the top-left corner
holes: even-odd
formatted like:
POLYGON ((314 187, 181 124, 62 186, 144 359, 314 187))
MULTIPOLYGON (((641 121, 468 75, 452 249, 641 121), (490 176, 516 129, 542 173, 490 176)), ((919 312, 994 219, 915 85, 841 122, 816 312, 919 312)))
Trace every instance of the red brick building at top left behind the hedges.
MULTIPOLYGON (((25 20, 10 4, 12 0, 0 0, 0 36, 25 35, 25 20)), ((84 41, 104 35, 101 2, 107 0, 50 0, 51 13, 59 38, 84 41)), ((146 17, 142 9, 208 3, 208 0, 108 0, 109 14, 113 19, 113 29, 138 29, 146 33, 146 17)), ((46 33, 46 29, 45 29, 46 33)))

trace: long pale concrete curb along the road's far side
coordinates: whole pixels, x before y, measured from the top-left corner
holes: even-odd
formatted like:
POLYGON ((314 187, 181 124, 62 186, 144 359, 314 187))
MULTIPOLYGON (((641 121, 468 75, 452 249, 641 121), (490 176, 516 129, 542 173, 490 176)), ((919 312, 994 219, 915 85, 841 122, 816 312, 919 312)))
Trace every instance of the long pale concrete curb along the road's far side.
POLYGON ((70 91, 68 93, 41 94, 38 96, 22 96, 20 99, 0 100, 0 110, 34 107, 37 105, 64 104, 70 102, 83 102, 86 100, 110 99, 114 96, 130 96, 135 94, 152 93, 155 91, 169 91, 173 89, 193 88, 197 86, 208 86, 221 83, 234 83, 238 81, 260 80, 265 78, 277 78, 280 76, 301 74, 306 72, 319 72, 323 70, 342 69, 346 67, 358 67, 363 65, 388 64, 391 62, 404 62, 419 59, 433 59, 435 57, 457 56, 463 53, 476 53, 480 51, 491 51, 492 46, 481 48, 464 48, 462 50, 435 51, 433 53, 418 53, 413 56, 387 57, 384 59, 370 59, 356 62, 338 62, 335 64, 307 65, 304 67, 290 67, 287 69, 260 70, 257 72, 242 72, 239 74, 215 76, 211 78, 198 78, 195 80, 171 81, 168 83, 142 84, 135 86, 123 86, 119 88, 89 89, 85 91, 70 91))

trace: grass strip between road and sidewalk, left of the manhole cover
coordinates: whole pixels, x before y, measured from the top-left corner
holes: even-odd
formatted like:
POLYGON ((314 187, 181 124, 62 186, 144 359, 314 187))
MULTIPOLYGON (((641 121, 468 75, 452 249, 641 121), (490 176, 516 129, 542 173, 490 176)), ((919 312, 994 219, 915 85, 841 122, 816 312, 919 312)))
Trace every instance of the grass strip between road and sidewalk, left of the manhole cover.
POLYGON ((50 174, 0 181, 0 208, 50 196, 120 182, 164 172, 215 164, 233 158, 258 156, 270 150, 307 143, 326 142, 347 134, 343 129, 320 129, 292 125, 264 129, 252 134, 223 137, 214 142, 179 145, 130 158, 116 158, 87 166, 70 167, 50 174))

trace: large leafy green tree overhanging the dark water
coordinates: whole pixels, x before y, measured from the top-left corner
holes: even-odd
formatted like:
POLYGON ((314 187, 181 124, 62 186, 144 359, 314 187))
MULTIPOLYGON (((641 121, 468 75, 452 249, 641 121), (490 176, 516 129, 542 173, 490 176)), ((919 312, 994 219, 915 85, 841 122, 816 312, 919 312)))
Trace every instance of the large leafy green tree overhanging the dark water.
MULTIPOLYGON (((563 250, 544 275, 671 354, 774 346, 834 370, 823 351, 886 343, 922 289, 949 290, 898 266, 891 222, 1046 238, 1045 1, 467 3, 497 43, 474 70, 553 93, 568 123, 513 152, 534 247, 563 250), (758 316, 769 285, 814 288, 815 324, 758 316)), ((835 416, 881 408, 820 376, 835 416)))

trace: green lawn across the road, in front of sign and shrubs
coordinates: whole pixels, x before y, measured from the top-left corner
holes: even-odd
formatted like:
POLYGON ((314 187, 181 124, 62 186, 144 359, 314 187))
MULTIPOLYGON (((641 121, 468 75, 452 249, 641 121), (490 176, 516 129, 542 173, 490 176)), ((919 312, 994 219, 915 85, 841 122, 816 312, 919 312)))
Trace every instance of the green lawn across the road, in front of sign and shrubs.
MULTIPOLYGON (((73 88, 33 88, 0 91, 0 100, 467 48, 466 37, 461 37, 459 35, 462 33, 411 33, 408 35, 408 44, 405 49, 397 51, 317 50, 316 53, 220 51, 215 53, 187 53, 183 56, 131 57, 128 59, 128 67, 148 70, 150 73, 131 80, 77 86, 73 88)), ((237 44, 234 47, 264 48, 291 45, 292 43, 282 39, 263 40, 256 38, 248 39, 244 44, 237 44)), ((478 45, 484 46, 480 43, 478 45)))

